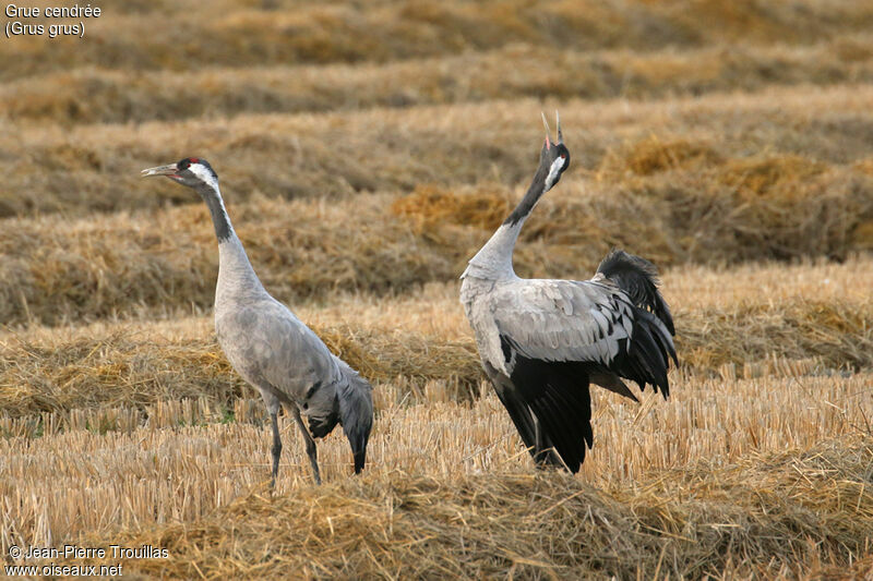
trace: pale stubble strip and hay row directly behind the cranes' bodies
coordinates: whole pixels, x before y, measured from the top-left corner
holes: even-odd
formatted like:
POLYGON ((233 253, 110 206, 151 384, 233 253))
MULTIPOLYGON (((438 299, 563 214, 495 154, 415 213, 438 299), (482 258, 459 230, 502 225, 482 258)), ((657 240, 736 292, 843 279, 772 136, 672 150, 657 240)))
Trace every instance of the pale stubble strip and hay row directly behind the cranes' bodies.
MULTIPOLYGON (((869 263, 669 271, 665 292, 682 372, 808 377, 873 367, 873 302, 862 290, 873 283, 869 263)), ((297 311, 369 379, 399 382, 414 395, 433 382, 449 386, 454 399, 477 395, 483 377, 456 283, 405 298, 338 295, 331 303, 297 311)), ((253 392, 213 334, 210 317, 201 316, 5 335, 0 406, 11 417, 201 396, 230 407, 253 392)))

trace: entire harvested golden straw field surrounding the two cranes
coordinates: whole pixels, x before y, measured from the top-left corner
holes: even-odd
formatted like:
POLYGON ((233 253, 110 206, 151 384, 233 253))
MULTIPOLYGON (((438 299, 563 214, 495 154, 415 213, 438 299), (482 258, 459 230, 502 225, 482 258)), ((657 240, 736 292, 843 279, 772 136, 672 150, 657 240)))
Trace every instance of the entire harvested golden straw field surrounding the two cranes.
POLYGON ((122 543, 170 555, 130 578, 873 576, 873 5, 100 8, 83 39, 0 40, 4 562, 122 543), (517 271, 655 261, 680 355, 669 401, 593 390, 576 477, 534 469, 457 302, 553 109, 573 160, 517 271), (284 422, 266 487, 207 210, 139 178, 189 155, 267 289, 374 384, 361 477, 335 433, 313 486, 284 422))

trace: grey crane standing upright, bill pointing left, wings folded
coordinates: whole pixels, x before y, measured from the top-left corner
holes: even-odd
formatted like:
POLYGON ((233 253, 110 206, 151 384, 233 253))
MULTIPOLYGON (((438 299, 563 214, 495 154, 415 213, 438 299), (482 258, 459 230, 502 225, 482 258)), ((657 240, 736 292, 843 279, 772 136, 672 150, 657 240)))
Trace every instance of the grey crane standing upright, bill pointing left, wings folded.
POLYGON ((166 175, 192 187, 210 208, 218 239, 215 331, 230 364, 261 392, 270 412, 272 485, 279 470, 282 439, 276 416, 283 404, 303 435, 316 484, 321 484, 321 474, 312 438, 326 436, 337 423, 351 445, 355 472, 360 473, 373 423, 372 388, 264 290, 230 223, 212 166, 205 159, 187 157, 144 169, 142 174, 166 175), (309 429, 300 417, 301 411, 309 420, 309 429))

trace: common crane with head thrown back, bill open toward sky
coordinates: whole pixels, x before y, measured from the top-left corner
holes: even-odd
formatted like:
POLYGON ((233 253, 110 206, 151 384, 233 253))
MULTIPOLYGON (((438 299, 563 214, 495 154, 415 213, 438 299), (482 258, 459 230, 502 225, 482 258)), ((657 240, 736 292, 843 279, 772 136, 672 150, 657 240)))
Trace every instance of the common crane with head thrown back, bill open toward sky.
MULTIPOLYGON (((555 113, 557 117, 557 113, 555 113)), ((570 165, 561 120, 522 202, 462 275, 461 302, 482 366, 538 465, 578 472, 591 447, 589 384, 637 401, 622 377, 660 390, 677 362, 673 320, 648 261, 613 250, 590 280, 518 278, 512 254, 522 226, 570 165)))

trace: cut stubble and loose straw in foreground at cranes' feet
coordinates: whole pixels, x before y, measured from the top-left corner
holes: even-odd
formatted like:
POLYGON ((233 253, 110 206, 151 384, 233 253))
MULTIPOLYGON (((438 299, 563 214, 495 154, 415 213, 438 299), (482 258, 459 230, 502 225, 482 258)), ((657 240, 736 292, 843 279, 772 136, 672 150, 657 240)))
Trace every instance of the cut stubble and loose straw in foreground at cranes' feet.
MULTIPOLYGON (((813 557, 823 565, 848 566, 869 550, 864 543, 873 535, 873 493, 863 485, 871 462, 864 423, 873 413, 870 385, 869 374, 698 378, 670 401, 649 395, 641 406, 598 390, 595 448, 579 480, 559 473, 510 476, 533 467, 490 394, 469 406, 381 407, 366 475, 348 479, 348 445, 335 434, 320 444, 328 483, 321 488, 312 487, 295 426, 283 419, 286 451, 278 497, 272 500, 261 496, 268 474, 266 426, 179 422, 130 433, 45 435, 27 446, 21 438, 4 438, 0 549, 5 554, 12 543, 49 546, 83 537, 152 543, 169 548, 171 559, 127 565, 177 577, 189 577, 184 568, 191 560, 214 574, 219 567, 242 562, 264 567, 266 574, 289 558, 300 559, 294 561, 299 567, 325 567, 323 574, 342 574, 344 567, 369 571, 375 565, 367 565, 367 547, 376 546, 378 555, 397 559, 376 559, 391 565, 390 571, 403 559, 424 559, 422 567, 433 567, 434 558, 441 567, 454 559, 458 567, 470 567, 465 569, 470 574, 476 567, 490 571, 487 567, 513 564, 490 560, 506 556, 493 553, 493 546, 505 546, 549 567, 600 562, 626 576, 639 561, 621 558, 624 552, 635 547, 650 571, 667 540, 675 543, 668 548, 675 555, 669 567, 693 577, 711 572, 696 568, 725 566, 719 559, 729 555, 737 565, 763 570, 809 565, 805 559, 813 557), (486 498, 491 500, 479 504, 486 498), (227 508, 214 512, 219 507, 227 508), (302 507, 306 516, 298 512, 302 507), (366 507, 379 509, 371 513, 366 507), (608 510, 598 513, 601 509, 608 510), (359 520, 360 510, 369 516, 359 520), (585 525, 588 519, 579 516, 589 510, 595 517, 585 525), (504 538, 504 526, 515 533, 514 541, 504 538), (585 534, 577 526, 586 526, 585 534), (599 536, 591 536, 588 526, 599 528, 599 536), (423 540, 438 530, 444 531, 441 541, 423 540), (488 535, 477 537, 486 531, 491 542, 485 541, 488 535), (412 548, 407 534, 418 535, 424 546, 412 548), (623 535, 630 536, 619 545, 608 542, 623 535), (655 538, 660 543, 649 553, 646 547, 655 538), (251 558, 249 552, 263 550, 265 544, 270 557, 251 558), (198 554, 198 547, 207 546, 208 552, 198 554), (718 546, 731 547, 729 554, 721 555, 718 546)), ((380 387, 399 399, 399 390, 380 387)))

